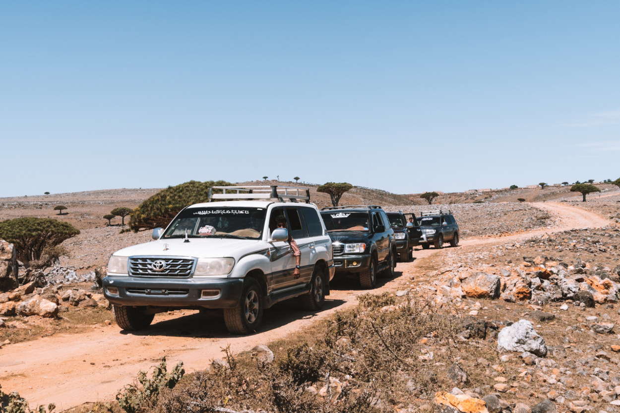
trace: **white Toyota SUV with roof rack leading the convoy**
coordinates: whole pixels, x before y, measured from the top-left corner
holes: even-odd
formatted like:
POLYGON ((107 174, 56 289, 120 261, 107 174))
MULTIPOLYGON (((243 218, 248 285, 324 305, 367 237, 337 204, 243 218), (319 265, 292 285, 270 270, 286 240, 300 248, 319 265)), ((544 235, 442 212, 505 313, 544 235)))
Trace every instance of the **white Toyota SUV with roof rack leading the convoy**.
POLYGON ((224 193, 210 190, 209 200, 226 201, 190 205, 153 230, 154 242, 110 257, 104 295, 123 329, 144 329, 170 309, 223 309, 230 332, 249 334, 278 301, 299 297, 306 310, 322 307, 334 277, 332 241, 308 191, 213 188, 224 193), (288 229, 277 228, 282 217, 288 229), (301 250, 299 278, 289 235, 301 250))

